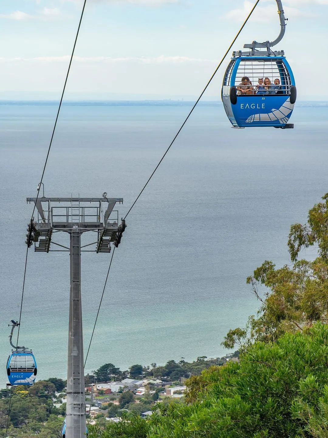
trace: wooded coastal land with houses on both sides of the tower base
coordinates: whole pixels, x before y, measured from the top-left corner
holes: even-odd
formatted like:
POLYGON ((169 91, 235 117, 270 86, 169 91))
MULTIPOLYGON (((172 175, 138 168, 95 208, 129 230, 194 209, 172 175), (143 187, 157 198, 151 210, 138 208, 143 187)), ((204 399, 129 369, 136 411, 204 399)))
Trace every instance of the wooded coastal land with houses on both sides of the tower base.
MULTIPOLYGON (((181 357, 163 365, 135 364, 124 371, 112 363, 103 364, 84 376, 87 430, 120 427, 131 417, 152 419, 154 412, 167 405, 184 405, 188 379, 211 367, 238 361, 239 352, 235 351, 221 358, 199 356, 191 362, 181 357)), ((0 438, 6 435, 3 427, 10 438, 31 438, 35 434, 58 438, 60 430, 61 436, 66 436, 68 391, 66 380, 57 377, 36 380, 28 388, 17 385, 12 393, 8 387, 0 389, 0 438), (10 400, 7 427, 1 421, 6 419, 10 400)))

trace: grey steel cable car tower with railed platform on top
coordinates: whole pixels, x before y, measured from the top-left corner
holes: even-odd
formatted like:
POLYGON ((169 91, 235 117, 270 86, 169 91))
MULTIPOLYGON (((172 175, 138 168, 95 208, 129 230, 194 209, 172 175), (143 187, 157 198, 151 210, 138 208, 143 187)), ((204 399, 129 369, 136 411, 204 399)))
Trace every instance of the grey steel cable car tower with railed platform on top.
POLYGON ((70 252, 70 314, 67 363, 66 438, 84 438, 86 431, 84 396, 84 357, 81 307, 81 252, 109 253, 111 243, 118 247, 126 229, 119 224, 119 212, 113 210, 123 198, 27 198, 34 202, 38 219, 28 225, 26 244, 35 251, 70 252), (70 247, 52 240, 55 233, 70 235, 70 247), (81 234, 96 233, 97 240, 81 246, 81 234), (38 243, 38 244, 37 244, 38 243), (63 249, 51 250, 50 245, 63 249), (94 249, 83 250, 84 247, 94 249))

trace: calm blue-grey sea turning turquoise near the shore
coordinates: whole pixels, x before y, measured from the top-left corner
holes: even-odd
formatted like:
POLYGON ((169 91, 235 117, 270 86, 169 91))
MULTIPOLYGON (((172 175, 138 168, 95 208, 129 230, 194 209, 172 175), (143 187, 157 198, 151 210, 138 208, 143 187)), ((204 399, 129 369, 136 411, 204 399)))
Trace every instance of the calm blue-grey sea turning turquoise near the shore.
MULTIPOLYGON (((124 215, 188 113, 188 106, 64 106, 48 196, 124 198, 124 215)), ((56 106, 0 105, 0 357, 19 317, 25 233, 56 106)), ((220 342, 258 303, 245 279, 265 259, 288 263, 291 223, 328 191, 327 107, 295 109, 294 130, 233 130, 221 106, 199 106, 130 213, 115 252, 86 371, 113 362, 161 364, 225 353, 220 342)), ((314 257, 313 251, 304 253, 314 257)), ((67 253, 28 255, 20 332, 39 378, 65 378, 67 253)), ((82 256, 84 345, 108 254, 82 256)))

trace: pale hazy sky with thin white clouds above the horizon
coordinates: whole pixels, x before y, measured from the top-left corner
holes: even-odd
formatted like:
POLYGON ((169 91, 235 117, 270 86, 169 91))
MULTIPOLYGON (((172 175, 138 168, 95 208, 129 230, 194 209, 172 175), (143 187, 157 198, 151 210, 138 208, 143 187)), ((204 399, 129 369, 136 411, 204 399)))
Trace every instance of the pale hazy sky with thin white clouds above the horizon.
MULTIPOLYGON (((192 98, 199 95, 253 1, 87 0, 67 98, 192 98)), ((284 49, 299 99, 328 100, 328 0, 283 0, 284 49), (323 55, 323 56, 322 56, 323 55), (320 60, 320 61, 319 61, 320 60), (314 71, 314 66, 320 62, 314 71)), ((80 0, 1 2, 0 99, 58 99, 80 0)), ((261 0, 234 49, 276 38, 274 0, 261 0)), ((220 99, 221 67, 206 98, 220 99)))

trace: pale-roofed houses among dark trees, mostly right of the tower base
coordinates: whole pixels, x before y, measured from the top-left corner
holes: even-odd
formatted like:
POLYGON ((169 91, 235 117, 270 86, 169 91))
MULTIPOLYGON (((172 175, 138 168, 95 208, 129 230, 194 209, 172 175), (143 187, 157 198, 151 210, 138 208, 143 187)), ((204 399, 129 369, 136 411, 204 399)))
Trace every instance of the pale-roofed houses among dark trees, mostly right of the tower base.
MULTIPOLYGON (((181 358, 179 362, 169 360, 164 366, 155 363, 151 367, 133 365, 129 371, 121 371, 113 364, 104 364, 93 371, 94 374, 85 376, 87 424, 116 423, 124 413, 131 412, 147 418, 153 414, 157 403, 183 402, 186 390, 184 382, 190 376, 200 374, 213 365, 237 360, 238 352, 212 359, 200 356, 190 363, 181 358)), ((65 388, 56 391, 52 397, 54 407, 58 410, 66 406, 65 391, 65 388)))

